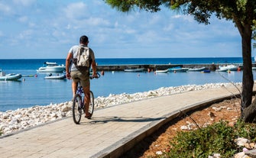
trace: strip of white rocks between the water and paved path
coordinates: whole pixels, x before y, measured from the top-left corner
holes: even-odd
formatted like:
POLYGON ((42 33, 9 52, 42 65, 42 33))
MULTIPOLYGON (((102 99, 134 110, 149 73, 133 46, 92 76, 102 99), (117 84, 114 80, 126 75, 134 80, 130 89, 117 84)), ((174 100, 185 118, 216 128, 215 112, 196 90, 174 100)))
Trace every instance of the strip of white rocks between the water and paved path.
MULTIPOLYGON (((177 87, 160 88, 148 92, 134 94, 122 93, 109 95, 108 97, 95 98, 95 108, 105 108, 112 105, 120 105, 135 102, 145 98, 154 98, 164 95, 173 95, 180 92, 196 91, 201 89, 225 88, 228 86, 241 87, 241 82, 236 83, 211 83, 205 85, 182 85, 177 87)), ((72 102, 51 104, 47 106, 35 105, 31 108, 19 108, 15 111, 0 111, 0 133, 2 136, 20 131, 28 127, 34 127, 49 121, 66 118, 72 115, 72 102)))

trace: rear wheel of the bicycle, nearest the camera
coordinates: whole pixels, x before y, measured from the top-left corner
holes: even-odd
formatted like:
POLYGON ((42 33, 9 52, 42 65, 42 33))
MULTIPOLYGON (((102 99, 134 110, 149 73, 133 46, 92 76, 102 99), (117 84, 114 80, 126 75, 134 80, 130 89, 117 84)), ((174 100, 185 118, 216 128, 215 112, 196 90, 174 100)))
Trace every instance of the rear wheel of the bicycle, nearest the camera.
POLYGON ((79 124, 82 116, 83 111, 83 102, 82 97, 79 94, 76 94, 73 98, 73 106, 72 106, 72 112, 73 112, 73 121, 75 124, 79 124))

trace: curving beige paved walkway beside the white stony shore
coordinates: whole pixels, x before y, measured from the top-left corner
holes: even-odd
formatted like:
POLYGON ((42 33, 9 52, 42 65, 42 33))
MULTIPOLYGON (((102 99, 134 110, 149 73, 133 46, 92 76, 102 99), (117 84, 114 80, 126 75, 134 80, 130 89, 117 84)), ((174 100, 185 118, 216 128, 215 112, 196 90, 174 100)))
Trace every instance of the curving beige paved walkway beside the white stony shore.
POLYGON ((54 121, 0 139, 4 157, 118 157, 180 110, 206 105, 215 99, 238 94, 232 88, 206 89, 145 99, 96 110, 81 124, 72 118, 54 121))

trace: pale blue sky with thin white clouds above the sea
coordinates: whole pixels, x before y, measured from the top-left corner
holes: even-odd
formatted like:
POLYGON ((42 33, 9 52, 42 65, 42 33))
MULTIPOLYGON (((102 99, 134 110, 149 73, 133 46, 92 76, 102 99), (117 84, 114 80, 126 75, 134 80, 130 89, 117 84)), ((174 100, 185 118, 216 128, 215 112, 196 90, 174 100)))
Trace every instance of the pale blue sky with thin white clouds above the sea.
POLYGON ((122 13, 102 0, 0 1, 0 15, 0 59, 63 59, 83 34, 96 58, 241 57, 237 28, 214 16, 204 25, 167 8, 122 13))

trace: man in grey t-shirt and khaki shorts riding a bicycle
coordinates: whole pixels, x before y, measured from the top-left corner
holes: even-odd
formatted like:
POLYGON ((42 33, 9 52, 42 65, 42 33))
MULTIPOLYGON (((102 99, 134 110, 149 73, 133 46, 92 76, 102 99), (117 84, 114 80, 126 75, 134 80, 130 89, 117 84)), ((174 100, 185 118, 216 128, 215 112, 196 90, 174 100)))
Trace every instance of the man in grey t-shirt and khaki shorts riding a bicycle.
POLYGON ((95 56, 92 49, 88 48, 88 43, 89 43, 88 37, 83 35, 82 37, 80 37, 79 45, 75 45, 71 47, 66 57, 66 78, 73 79, 73 82, 72 82, 73 97, 76 95, 78 82, 80 82, 80 85, 83 86, 83 92, 85 94, 85 97, 84 97, 84 103, 85 103, 84 111, 86 114, 85 118, 92 117, 88 112, 89 99, 90 99, 89 69, 78 69, 78 67, 75 65, 74 59, 77 59, 78 57, 79 47, 86 47, 87 49, 89 49, 89 67, 92 66, 92 77, 97 77, 95 56))

